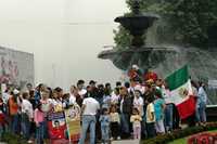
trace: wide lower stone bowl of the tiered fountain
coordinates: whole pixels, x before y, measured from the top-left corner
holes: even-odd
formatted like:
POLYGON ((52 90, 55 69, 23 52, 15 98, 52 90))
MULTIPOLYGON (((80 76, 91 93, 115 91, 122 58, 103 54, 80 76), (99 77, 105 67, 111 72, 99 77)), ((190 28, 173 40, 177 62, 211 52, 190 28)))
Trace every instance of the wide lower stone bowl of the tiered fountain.
POLYGON ((174 48, 138 48, 125 50, 105 50, 102 51, 98 57, 103 60, 111 60, 113 64, 122 70, 127 70, 132 64, 137 64, 142 69, 155 68, 157 64, 162 63, 165 53, 176 53, 174 48))

